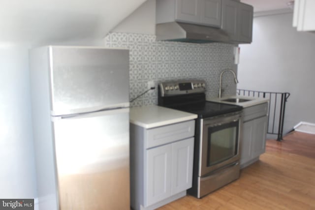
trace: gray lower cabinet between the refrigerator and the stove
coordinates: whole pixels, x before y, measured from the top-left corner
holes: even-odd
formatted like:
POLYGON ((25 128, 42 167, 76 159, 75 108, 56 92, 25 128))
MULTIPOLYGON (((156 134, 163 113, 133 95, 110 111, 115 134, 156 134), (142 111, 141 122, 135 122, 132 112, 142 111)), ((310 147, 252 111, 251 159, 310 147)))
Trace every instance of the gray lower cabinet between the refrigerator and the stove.
POLYGON ((152 129, 130 124, 131 207, 151 210, 192 185, 194 120, 152 129))

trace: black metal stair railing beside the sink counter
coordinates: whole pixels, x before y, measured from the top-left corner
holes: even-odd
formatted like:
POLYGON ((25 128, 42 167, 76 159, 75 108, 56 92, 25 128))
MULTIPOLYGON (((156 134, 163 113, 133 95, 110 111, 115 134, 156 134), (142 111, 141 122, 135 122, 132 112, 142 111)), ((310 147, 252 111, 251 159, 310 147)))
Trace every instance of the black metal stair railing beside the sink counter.
POLYGON ((237 94, 249 97, 269 99, 267 133, 278 135, 277 141, 281 141, 284 131, 285 103, 287 102, 290 93, 237 89, 237 94))

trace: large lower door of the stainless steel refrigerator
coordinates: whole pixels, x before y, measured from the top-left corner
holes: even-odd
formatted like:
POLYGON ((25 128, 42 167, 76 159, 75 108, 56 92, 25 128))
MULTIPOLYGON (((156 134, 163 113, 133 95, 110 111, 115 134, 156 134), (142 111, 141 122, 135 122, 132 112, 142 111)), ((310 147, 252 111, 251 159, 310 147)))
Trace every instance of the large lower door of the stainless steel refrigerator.
POLYGON ((55 120, 61 210, 128 210, 129 109, 55 120))

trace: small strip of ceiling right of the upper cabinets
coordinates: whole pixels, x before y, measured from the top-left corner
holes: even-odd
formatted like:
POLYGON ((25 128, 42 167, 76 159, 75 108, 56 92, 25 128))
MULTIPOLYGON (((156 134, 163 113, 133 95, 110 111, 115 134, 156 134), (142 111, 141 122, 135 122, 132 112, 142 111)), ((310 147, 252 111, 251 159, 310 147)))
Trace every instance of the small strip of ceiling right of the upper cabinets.
POLYGON ((251 4, 254 12, 287 9, 287 3, 292 0, 241 0, 243 3, 251 4))

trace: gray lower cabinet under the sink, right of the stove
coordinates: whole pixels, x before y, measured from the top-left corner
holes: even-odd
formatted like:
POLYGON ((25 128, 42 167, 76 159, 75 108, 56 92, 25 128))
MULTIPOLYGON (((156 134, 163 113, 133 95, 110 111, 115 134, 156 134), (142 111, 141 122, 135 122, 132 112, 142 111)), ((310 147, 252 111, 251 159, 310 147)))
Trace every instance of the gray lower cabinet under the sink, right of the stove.
POLYGON ((268 103, 244 108, 243 138, 241 142, 241 168, 259 159, 265 152, 268 103))

